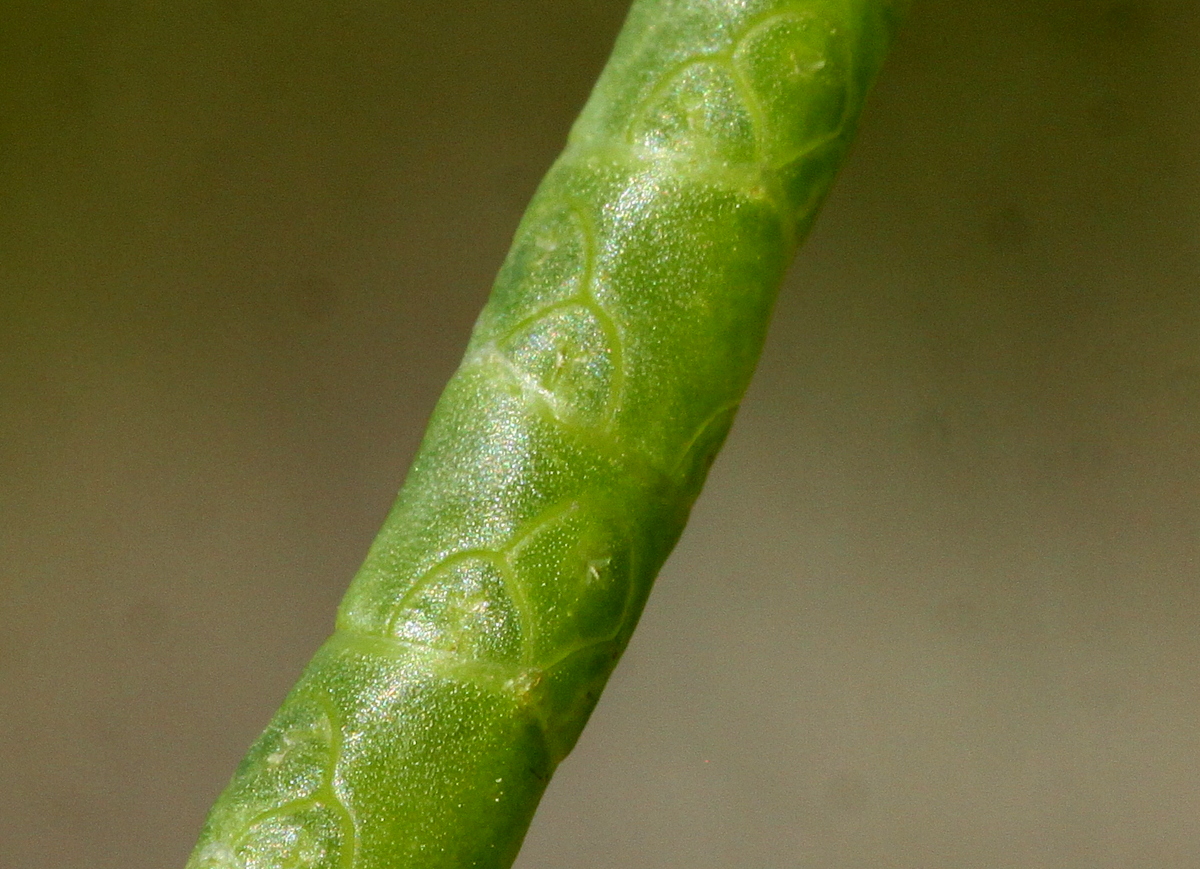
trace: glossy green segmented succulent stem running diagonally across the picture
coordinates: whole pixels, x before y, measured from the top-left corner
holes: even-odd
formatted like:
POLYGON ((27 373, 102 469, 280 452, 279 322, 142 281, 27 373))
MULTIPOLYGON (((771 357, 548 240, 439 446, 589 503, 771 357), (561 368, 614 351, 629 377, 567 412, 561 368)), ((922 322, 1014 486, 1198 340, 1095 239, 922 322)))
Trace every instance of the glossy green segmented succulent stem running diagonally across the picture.
POLYGON ((728 431, 898 7, 634 4, 336 633, 191 869, 511 864, 728 431))

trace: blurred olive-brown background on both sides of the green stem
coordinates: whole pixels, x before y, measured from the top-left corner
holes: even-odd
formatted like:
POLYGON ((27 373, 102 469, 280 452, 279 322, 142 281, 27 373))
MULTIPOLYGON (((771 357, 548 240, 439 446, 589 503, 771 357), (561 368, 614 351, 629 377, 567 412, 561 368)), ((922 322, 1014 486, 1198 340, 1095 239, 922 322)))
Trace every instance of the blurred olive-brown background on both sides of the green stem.
MULTIPOLYGON (((181 867, 624 0, 0 4, 0 867, 181 867)), ((1200 7, 918 0, 520 869, 1200 865, 1200 7)))

